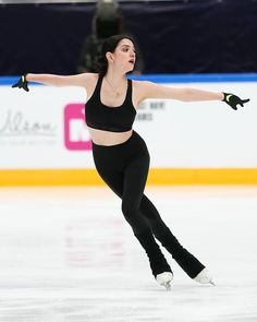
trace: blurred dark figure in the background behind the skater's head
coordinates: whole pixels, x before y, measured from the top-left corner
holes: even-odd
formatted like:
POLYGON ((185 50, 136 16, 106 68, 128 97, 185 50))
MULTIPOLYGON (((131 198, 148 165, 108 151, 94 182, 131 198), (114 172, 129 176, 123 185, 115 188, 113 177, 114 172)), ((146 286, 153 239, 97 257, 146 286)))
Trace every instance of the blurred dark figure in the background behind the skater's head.
MULTIPOLYGON (((99 1, 91 21, 91 34, 84 40, 79 53, 77 72, 97 72, 103 40, 110 36, 124 33, 130 35, 125 32, 124 19, 118 2, 112 0, 99 1)), ((133 39, 135 39, 134 36, 133 39)), ((135 47, 137 59, 133 74, 139 75, 144 71, 144 61, 136 41, 135 47)))

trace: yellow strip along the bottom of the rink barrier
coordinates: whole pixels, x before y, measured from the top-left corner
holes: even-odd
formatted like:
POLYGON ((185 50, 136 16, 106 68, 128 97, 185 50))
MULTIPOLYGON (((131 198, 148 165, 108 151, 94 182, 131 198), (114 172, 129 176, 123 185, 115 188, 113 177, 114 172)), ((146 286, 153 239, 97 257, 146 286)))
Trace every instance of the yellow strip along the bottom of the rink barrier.
MULTIPOLYGON (((94 169, 0 170, 0 186, 102 186, 94 169)), ((257 169, 150 169, 147 184, 257 184, 257 169)))

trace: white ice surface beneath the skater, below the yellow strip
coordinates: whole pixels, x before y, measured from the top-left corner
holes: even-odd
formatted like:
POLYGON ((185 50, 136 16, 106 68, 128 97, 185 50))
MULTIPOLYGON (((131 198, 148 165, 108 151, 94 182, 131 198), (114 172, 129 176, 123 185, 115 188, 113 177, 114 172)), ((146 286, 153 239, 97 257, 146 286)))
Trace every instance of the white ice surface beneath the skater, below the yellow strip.
POLYGON ((147 187, 217 286, 170 291, 107 188, 0 189, 0 321, 256 322, 257 187, 147 187))

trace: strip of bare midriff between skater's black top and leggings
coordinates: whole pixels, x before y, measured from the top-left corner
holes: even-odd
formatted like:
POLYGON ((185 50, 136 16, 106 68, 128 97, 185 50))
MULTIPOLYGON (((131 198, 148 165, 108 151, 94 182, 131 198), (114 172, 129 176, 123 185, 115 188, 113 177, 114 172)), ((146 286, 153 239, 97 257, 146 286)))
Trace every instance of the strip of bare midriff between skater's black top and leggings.
POLYGON ((132 135, 133 130, 126 132, 110 132, 87 127, 91 141, 97 145, 117 145, 124 143, 132 135))

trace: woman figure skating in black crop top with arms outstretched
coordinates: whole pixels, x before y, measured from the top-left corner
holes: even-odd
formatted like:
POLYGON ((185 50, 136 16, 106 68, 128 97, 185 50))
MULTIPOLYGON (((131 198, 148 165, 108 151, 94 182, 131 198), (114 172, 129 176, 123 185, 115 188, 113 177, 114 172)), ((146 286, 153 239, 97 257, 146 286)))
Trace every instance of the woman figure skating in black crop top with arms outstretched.
POLYGON ((233 94, 193 88, 171 88, 151 82, 131 81, 126 73, 136 61, 134 41, 125 35, 108 38, 102 46, 100 71, 71 76, 52 74, 23 75, 13 87, 28 91, 27 82, 57 86, 82 86, 87 92, 86 122, 93 140, 96 168, 105 182, 122 199, 122 212, 135 237, 145 249, 156 281, 170 288, 173 273, 157 238, 185 273, 201 284, 212 283, 204 264, 183 248, 144 194, 149 154, 144 140, 132 130, 136 109, 146 98, 224 100, 232 108, 243 106, 233 94))

